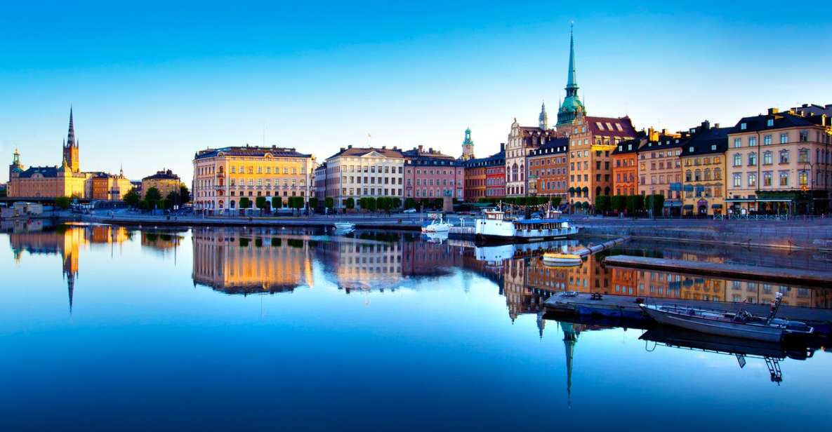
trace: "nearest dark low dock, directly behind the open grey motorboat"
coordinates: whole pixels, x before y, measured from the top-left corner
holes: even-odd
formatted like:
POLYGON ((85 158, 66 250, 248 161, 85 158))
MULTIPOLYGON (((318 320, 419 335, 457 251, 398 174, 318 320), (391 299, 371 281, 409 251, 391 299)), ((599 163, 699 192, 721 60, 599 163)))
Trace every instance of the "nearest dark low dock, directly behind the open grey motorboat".
MULTIPOLYGON (((644 312, 641 312, 641 307, 638 306, 639 302, 636 300, 639 298, 604 294, 600 299, 593 299, 592 294, 588 292, 579 292, 576 296, 559 292, 549 297, 543 306, 549 312, 649 321, 650 317, 647 317, 644 312)), ((660 297, 641 297, 641 302, 645 302, 646 304, 674 304, 686 307, 701 307, 729 312, 737 312, 742 309, 760 316, 767 316, 770 310, 769 305, 766 304, 707 302, 704 300, 660 297)), ((815 330, 820 333, 828 334, 832 331, 832 310, 830 309, 781 306, 777 317, 810 323, 816 326, 815 330)))

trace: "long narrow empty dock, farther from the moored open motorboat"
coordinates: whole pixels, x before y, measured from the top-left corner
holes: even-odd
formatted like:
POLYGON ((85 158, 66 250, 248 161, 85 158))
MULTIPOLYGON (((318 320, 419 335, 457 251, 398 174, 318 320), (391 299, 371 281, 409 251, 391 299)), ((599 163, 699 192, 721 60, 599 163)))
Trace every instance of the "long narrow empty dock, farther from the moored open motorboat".
POLYGON ((714 277, 731 277, 751 281, 778 282, 811 287, 830 287, 832 272, 799 268, 773 268, 743 264, 707 263, 681 259, 612 255, 604 258, 607 267, 643 268, 714 277))

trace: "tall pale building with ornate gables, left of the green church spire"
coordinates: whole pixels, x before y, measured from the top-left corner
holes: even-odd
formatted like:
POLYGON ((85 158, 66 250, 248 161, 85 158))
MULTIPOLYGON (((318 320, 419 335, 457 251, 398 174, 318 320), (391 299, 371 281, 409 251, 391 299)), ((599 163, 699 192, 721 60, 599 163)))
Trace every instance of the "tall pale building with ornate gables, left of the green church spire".
POLYGON ((505 184, 506 196, 522 197, 528 194, 526 157, 541 145, 557 137, 555 130, 545 122, 546 106, 542 106, 537 127, 521 126, 517 119, 511 125, 506 141, 505 184))

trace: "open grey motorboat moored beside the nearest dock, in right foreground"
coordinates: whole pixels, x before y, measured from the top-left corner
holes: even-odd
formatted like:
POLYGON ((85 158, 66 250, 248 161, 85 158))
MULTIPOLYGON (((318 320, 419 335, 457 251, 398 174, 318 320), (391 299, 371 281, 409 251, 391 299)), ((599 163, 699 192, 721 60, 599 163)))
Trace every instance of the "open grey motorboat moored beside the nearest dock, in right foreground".
POLYGON ((769 317, 757 317, 747 311, 726 312, 671 304, 639 306, 659 324, 717 336, 780 342, 786 336, 808 336, 814 333, 815 329, 805 322, 775 318, 782 297, 778 292, 769 317))

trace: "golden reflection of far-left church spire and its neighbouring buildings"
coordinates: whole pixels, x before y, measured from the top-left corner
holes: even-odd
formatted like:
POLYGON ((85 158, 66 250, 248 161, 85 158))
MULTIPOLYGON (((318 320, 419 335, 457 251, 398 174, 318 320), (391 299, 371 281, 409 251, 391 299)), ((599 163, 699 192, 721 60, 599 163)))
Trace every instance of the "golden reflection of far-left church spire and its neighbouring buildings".
MULTIPOLYGON (((22 259, 23 252, 61 256, 63 277, 67 281, 69 310, 72 312, 81 251, 95 244, 114 247, 130 239, 131 233, 124 227, 109 225, 66 224, 43 230, 42 225, 38 224, 12 228, 8 238, 16 262, 22 259)), ((111 251, 114 253, 115 249, 111 251)))

